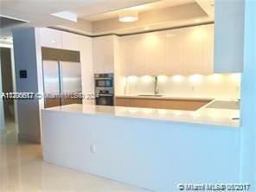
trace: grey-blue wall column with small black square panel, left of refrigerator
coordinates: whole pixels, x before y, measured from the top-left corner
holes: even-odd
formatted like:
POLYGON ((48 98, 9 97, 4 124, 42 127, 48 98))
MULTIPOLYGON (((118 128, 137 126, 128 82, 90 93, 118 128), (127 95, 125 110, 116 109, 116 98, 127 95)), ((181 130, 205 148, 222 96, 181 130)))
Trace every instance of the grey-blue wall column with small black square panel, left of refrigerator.
MULTIPOLYGON (((37 29, 16 29, 13 44, 16 67, 16 92, 42 91, 39 71, 42 66, 39 32, 37 29), (27 70, 27 79, 19 77, 20 70, 27 70)), ((20 140, 40 143, 40 103, 38 99, 17 100, 18 137, 20 140)))

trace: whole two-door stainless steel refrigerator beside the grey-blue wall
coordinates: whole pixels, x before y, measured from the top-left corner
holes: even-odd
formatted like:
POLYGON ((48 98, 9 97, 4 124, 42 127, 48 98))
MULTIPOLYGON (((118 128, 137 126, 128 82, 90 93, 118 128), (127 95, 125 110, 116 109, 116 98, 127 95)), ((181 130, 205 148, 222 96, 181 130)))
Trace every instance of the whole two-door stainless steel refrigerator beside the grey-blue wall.
POLYGON ((77 62, 80 59, 65 59, 61 56, 55 56, 53 58, 45 55, 43 59, 42 70, 45 108, 75 103, 81 104, 82 99, 79 97, 82 92, 81 67, 80 62, 77 62))

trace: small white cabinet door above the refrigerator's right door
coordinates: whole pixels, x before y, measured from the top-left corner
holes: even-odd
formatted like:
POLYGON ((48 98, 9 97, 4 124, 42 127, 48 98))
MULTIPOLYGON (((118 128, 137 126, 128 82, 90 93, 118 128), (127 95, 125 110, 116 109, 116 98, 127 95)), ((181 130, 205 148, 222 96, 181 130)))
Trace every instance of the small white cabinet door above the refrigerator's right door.
POLYGON ((62 48, 67 50, 80 50, 80 35, 62 32, 62 48))

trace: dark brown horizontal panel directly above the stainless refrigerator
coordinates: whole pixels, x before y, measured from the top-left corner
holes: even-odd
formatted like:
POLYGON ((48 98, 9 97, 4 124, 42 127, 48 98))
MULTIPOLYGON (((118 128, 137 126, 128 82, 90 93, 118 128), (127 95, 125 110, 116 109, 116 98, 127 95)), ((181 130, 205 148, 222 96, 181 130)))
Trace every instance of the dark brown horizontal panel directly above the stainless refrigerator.
POLYGON ((59 48, 42 48, 42 60, 80 62, 80 52, 59 48))

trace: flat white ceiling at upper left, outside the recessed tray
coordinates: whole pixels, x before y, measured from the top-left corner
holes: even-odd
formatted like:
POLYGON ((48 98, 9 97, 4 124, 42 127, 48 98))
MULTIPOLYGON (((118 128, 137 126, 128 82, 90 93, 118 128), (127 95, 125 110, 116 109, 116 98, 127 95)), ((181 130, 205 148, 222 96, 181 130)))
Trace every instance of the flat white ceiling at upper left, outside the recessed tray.
MULTIPOLYGON (((0 15, 29 21, 22 27, 48 27, 69 23, 51 14, 68 10, 80 16, 125 9, 157 0, 0 0, 0 15)), ((10 35, 10 28, 1 29, 0 36, 10 35)))

